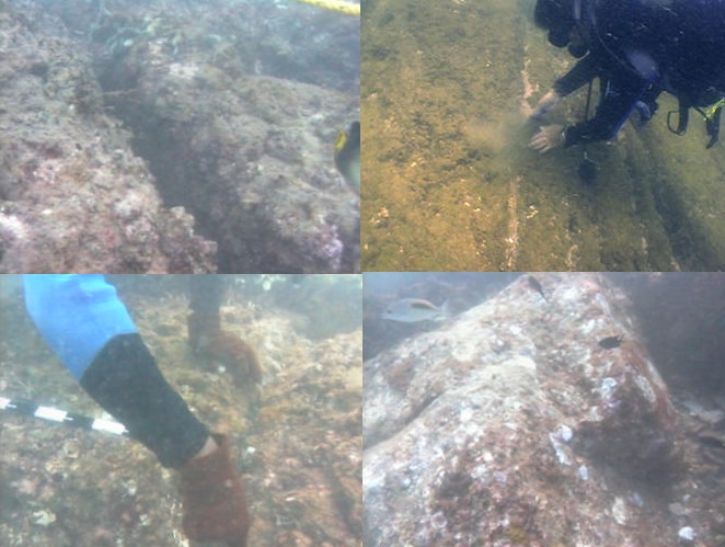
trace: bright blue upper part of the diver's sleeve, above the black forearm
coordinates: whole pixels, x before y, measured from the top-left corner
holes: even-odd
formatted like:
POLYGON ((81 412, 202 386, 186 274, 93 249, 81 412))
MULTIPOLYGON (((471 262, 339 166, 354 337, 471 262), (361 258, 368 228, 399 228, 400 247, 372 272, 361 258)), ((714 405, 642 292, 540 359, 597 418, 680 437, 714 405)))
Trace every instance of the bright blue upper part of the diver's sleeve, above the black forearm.
POLYGON ((112 338, 137 332, 103 275, 24 275, 23 285, 33 322, 77 380, 112 338))

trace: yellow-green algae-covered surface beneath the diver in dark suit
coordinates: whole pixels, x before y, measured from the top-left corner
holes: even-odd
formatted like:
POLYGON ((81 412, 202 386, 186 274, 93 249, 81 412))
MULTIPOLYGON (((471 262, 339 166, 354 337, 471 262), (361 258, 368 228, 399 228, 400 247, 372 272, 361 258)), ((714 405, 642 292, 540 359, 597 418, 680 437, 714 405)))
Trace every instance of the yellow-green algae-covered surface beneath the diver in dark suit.
MULTIPOLYGON (((572 64, 533 26, 533 4, 364 10, 362 269, 722 269, 725 158, 695 116, 687 136, 667 130, 671 98, 644 129, 589 147, 592 183, 577 176, 580 148, 527 148, 528 113, 572 64)), ((548 123, 580 119, 584 94, 548 123)))

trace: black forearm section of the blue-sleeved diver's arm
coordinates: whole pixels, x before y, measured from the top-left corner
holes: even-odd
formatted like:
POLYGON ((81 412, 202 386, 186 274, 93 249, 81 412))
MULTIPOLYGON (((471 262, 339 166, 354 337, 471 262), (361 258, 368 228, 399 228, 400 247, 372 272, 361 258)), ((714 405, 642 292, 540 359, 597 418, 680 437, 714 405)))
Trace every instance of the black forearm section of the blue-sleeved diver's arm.
POLYGON ((209 435, 166 383, 139 334, 111 339, 87 368, 81 386, 164 467, 188 461, 209 435))

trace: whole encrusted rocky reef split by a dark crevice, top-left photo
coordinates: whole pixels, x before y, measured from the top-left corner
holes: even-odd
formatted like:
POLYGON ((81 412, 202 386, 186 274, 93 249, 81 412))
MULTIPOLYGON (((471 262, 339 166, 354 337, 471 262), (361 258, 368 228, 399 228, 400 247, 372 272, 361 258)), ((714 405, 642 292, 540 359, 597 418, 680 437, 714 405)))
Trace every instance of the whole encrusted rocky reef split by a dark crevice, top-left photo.
POLYGON ((359 197, 333 164, 359 117, 357 18, 23 0, 0 48, 0 271, 358 269, 359 197))

